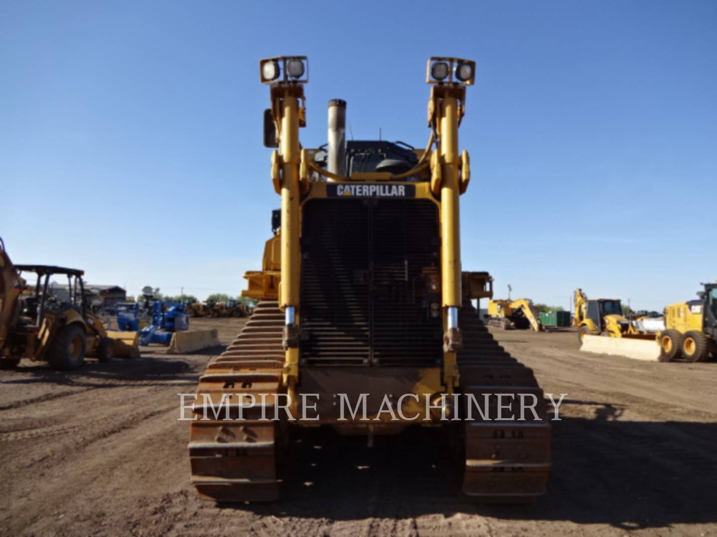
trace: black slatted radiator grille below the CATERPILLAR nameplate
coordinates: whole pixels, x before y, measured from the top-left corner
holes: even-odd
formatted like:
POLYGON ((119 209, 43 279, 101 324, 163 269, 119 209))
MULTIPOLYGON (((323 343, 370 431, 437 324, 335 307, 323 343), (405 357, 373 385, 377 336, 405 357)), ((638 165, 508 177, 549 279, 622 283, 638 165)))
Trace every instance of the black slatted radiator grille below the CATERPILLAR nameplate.
POLYGON ((440 364, 434 203, 310 200, 302 253, 303 364, 440 364))

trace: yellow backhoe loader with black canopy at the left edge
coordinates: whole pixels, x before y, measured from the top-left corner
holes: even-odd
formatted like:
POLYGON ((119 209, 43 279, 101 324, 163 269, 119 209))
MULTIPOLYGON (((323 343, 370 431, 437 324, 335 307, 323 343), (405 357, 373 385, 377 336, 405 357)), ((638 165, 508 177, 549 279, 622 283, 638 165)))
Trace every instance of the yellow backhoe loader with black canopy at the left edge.
POLYGON ((86 356, 109 362, 136 355, 137 334, 108 332, 90 311, 82 271, 47 265, 13 265, 0 241, 0 367, 11 369, 22 358, 44 360, 70 371, 86 356), (32 273, 30 286, 23 274, 32 273), (52 276, 66 276, 69 297, 59 299, 52 276))

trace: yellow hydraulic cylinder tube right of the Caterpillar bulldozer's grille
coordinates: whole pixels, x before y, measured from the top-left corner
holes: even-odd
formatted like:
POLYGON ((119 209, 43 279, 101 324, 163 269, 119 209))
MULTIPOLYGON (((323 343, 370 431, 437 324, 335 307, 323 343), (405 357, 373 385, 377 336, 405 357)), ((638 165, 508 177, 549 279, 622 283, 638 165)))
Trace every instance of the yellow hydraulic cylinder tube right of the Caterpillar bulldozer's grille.
POLYGON ((441 269, 443 306, 461 306, 458 102, 444 97, 439 113, 441 183, 441 269))

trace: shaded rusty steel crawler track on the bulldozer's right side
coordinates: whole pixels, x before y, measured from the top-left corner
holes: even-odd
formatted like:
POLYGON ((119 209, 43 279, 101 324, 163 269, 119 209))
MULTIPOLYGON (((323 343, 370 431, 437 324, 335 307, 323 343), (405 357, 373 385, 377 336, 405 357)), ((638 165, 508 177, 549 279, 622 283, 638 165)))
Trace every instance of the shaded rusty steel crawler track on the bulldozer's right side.
MULTIPOLYGON (((543 390, 525 367, 505 352, 467 302, 460 311, 463 348, 458 353, 460 392, 483 402, 483 394, 514 395, 511 413, 518 415, 521 398, 534 395, 538 420, 526 412, 525 421, 463 421, 465 468, 462 493, 476 503, 527 503, 545 493, 550 459, 550 422, 543 390)), ((465 401, 465 397, 463 398, 465 401)), ((506 409, 507 410, 507 409, 506 409)), ((463 407, 463 412, 467 408, 463 407)), ((473 417, 476 417, 474 409, 473 417)), ((490 407, 488 418, 498 417, 490 407)))

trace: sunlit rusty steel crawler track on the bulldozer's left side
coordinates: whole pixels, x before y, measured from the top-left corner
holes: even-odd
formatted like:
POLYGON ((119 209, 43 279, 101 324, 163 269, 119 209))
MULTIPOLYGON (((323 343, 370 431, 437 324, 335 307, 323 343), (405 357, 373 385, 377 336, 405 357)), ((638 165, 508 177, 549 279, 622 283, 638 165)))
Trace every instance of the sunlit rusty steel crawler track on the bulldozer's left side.
POLYGON ((199 378, 194 404, 198 419, 191 422, 189 458, 192 484, 203 497, 217 502, 279 498, 277 422, 259 417, 260 412, 275 412, 285 357, 283 323, 277 302, 261 301, 237 339, 199 378), (254 395, 257 405, 248 408, 236 394, 254 395), (222 415, 217 420, 208 407, 219 407, 227 395, 234 397, 227 411, 234 420, 223 421, 222 415), (239 412, 244 420, 236 420, 239 412))

